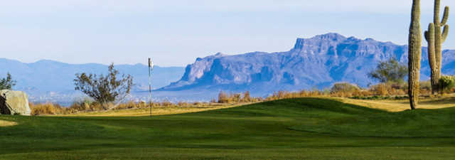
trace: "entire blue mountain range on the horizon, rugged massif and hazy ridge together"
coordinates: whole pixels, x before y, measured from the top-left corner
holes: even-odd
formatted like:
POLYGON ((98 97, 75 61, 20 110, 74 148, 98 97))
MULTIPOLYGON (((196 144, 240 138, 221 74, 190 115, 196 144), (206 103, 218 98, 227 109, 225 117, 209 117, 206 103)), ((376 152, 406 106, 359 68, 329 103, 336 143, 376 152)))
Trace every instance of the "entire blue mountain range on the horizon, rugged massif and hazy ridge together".
MULTIPOLYGON (((455 74, 455 50, 443 51, 443 70, 455 74)), ((375 84, 367 74, 378 63, 396 58, 407 64, 407 46, 391 42, 359 39, 338 33, 297 38, 294 47, 277 53, 252 52, 240 55, 216 53, 186 68, 156 67, 153 73, 154 100, 201 101, 215 98, 221 90, 265 96, 278 90, 312 90, 351 82, 366 87, 375 84)), ((17 80, 15 90, 24 90, 33 101, 71 102, 81 96, 74 90, 75 73, 107 73, 107 65, 68 64, 53 60, 21 63, 0 58, 0 78, 7 72, 17 80), (55 100, 58 99, 58 100, 55 100)), ((115 65, 121 73, 134 77, 135 100, 148 97, 147 66, 115 65)), ((421 80, 429 79, 427 48, 422 48, 421 80)))

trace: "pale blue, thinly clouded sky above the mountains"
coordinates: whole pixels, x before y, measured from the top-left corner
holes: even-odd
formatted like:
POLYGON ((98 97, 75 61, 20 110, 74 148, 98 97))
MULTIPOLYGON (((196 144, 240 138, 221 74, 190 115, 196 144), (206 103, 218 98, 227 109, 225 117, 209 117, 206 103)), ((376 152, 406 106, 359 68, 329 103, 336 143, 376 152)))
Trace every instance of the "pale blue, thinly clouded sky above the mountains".
MULTIPOLYGON (((422 31, 433 21, 433 3, 421 2, 422 31)), ((329 32, 405 45, 411 6, 412 0, 3 1, 0 58, 146 64, 151 57, 156 65, 186 66, 218 52, 287 51, 296 38, 329 32)), ((444 49, 455 49, 454 34, 444 49)))

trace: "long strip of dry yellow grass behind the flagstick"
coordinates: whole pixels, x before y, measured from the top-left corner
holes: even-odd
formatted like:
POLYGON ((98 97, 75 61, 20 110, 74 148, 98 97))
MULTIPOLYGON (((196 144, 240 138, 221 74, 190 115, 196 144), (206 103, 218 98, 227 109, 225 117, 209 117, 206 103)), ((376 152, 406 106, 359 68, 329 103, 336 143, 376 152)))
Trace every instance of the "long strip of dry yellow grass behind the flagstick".
MULTIPOLYGON (((247 104, 241 104, 247 105, 247 104)), ((168 115, 168 114, 183 114, 192 112, 203 112, 207 110, 219 110, 223 108, 238 107, 241 105, 212 105, 207 107, 153 107, 152 115, 168 115)), ((141 109, 125 109, 125 110, 109 110, 100 112, 80 112, 77 114, 65 114, 64 116, 84 116, 84 117, 138 117, 148 116, 149 108, 141 109)), ((57 115, 57 116, 61 116, 57 115)))

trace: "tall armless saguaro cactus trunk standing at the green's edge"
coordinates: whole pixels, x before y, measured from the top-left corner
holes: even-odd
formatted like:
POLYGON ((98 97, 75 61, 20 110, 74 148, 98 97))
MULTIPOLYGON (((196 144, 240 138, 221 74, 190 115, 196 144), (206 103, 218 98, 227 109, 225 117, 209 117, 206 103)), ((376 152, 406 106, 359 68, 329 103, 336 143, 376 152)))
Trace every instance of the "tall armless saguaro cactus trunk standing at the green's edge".
POLYGON ((419 102, 420 57, 422 54, 422 29, 420 28, 420 0, 413 0, 409 36, 409 96, 411 109, 419 102))

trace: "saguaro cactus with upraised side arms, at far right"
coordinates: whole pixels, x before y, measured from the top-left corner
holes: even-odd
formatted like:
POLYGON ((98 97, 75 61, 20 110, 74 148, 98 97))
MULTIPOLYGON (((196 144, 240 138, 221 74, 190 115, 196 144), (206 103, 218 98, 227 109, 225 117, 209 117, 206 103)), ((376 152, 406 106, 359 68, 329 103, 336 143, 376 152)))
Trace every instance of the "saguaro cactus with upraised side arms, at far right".
POLYGON ((439 91, 439 79, 441 78, 442 64, 442 43, 446 41, 449 35, 449 25, 446 24, 449 20, 449 6, 444 9, 444 16, 439 22, 439 8, 441 0, 434 0, 434 23, 430 23, 428 31, 425 31, 425 38, 428 42, 428 59, 432 70, 432 92, 435 94, 439 91), (444 30, 441 32, 441 28, 444 30))

